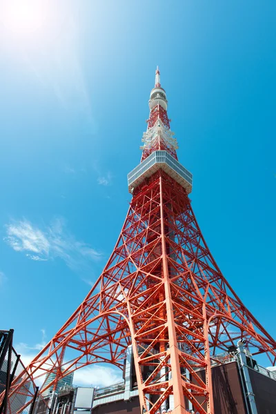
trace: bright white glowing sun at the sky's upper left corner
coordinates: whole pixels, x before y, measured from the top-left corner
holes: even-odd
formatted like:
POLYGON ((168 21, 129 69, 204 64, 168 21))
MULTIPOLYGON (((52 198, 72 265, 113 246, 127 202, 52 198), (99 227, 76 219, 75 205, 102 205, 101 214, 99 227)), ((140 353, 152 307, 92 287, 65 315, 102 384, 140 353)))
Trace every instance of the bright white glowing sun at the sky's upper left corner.
POLYGON ((32 34, 45 26, 47 0, 0 0, 0 19, 16 34, 32 34))

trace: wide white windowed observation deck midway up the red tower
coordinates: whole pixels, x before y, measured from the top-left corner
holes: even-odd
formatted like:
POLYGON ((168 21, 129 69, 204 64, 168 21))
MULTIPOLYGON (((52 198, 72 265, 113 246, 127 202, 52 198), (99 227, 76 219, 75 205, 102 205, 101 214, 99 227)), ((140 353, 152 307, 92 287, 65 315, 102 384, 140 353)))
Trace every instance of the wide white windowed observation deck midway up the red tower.
POLYGON ((146 177, 150 177, 159 169, 164 170, 177 183, 184 187, 187 194, 191 193, 193 175, 177 159, 164 150, 152 152, 141 164, 128 173, 129 192, 132 193, 146 177))

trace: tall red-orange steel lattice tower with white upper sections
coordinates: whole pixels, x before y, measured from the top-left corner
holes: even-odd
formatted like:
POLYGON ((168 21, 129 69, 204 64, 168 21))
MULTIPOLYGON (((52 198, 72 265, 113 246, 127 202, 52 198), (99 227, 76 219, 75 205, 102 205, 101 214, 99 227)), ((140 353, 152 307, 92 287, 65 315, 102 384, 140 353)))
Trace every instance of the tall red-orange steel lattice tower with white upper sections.
MULTIPOLYGON (((28 366, 55 380, 106 362, 124 369, 131 350, 141 413, 214 414, 211 370, 242 341, 276 362, 276 342, 242 304, 211 255, 188 197, 192 175, 177 159, 159 69, 132 201, 121 233, 86 298, 28 366)), ((106 228, 108 237, 108 229, 106 228)), ((12 384, 12 393, 24 377, 12 384)))

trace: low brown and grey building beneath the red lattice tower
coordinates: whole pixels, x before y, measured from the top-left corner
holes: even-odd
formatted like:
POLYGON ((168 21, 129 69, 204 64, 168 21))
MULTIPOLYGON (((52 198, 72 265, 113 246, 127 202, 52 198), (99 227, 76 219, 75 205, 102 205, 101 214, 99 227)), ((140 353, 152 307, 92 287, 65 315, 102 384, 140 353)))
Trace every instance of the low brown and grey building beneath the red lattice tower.
MULTIPOLYGON (((197 373, 204 379, 204 371, 197 373)), ((233 353, 217 355, 212 380, 215 414, 276 413, 276 372, 259 366, 244 346, 233 353), (250 408, 248 395, 254 398, 255 411, 250 408)), ((63 386, 51 407, 52 414, 141 414, 131 347, 122 382, 98 389, 63 386)), ((164 406, 163 412, 170 413, 168 410, 164 406)), ((41 404, 37 414, 45 413, 41 404)))

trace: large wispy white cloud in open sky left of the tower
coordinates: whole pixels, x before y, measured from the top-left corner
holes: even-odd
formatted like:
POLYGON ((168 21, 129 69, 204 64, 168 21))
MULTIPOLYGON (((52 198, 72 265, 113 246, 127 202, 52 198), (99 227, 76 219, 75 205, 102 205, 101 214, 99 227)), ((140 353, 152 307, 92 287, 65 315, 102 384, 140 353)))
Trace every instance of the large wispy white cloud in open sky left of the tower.
POLYGON ((75 239, 62 218, 52 221, 45 230, 26 219, 13 221, 6 226, 4 241, 17 252, 25 253, 28 259, 41 262, 59 257, 73 270, 102 257, 97 250, 75 239))

